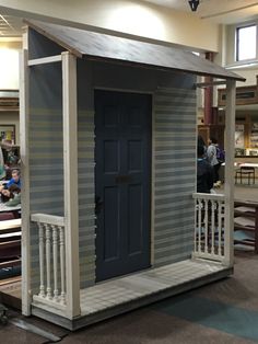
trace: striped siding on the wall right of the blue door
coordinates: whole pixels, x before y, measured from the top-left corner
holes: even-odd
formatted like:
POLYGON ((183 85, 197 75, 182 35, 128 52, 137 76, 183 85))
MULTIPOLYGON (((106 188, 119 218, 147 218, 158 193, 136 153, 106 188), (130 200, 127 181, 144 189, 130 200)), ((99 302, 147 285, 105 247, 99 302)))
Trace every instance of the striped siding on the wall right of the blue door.
POLYGON ((188 259, 194 244, 196 91, 154 95, 154 266, 188 259))

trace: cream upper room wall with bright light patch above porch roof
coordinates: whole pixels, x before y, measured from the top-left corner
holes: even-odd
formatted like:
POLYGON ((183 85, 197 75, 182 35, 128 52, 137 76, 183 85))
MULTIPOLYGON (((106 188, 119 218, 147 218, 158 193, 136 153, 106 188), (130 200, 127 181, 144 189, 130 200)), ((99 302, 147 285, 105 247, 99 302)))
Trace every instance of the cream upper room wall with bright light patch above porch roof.
POLYGON ((189 12, 134 0, 1 0, 0 10, 22 18, 50 20, 155 39, 195 49, 218 51, 219 25, 189 12))

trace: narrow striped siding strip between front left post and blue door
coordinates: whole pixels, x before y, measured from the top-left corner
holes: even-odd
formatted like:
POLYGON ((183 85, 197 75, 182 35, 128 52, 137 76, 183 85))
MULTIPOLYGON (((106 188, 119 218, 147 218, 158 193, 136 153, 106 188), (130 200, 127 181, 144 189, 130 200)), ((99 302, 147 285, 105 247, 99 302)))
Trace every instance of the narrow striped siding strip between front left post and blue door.
POLYGON ((78 184, 81 288, 95 283, 94 112, 78 115, 78 184))

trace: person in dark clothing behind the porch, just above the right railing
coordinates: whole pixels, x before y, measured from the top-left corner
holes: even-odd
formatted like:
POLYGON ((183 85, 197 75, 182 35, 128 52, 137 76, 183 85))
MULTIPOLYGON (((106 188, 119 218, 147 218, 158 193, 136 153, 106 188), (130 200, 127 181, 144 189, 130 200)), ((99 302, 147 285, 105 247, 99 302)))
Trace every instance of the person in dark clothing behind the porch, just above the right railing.
POLYGON ((203 159, 204 147, 198 145, 197 192, 210 194, 213 187, 214 172, 211 164, 203 159))

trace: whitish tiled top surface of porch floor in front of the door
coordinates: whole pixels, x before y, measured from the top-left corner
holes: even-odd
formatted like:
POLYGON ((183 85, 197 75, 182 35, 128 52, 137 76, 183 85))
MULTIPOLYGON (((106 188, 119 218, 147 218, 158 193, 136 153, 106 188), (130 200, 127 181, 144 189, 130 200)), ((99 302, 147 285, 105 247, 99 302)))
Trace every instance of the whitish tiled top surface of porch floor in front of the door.
POLYGON ((183 261, 112 279, 81 290, 82 317, 224 270, 221 264, 183 261))

